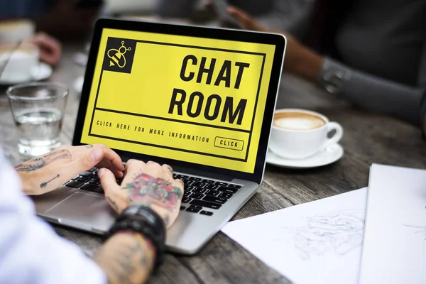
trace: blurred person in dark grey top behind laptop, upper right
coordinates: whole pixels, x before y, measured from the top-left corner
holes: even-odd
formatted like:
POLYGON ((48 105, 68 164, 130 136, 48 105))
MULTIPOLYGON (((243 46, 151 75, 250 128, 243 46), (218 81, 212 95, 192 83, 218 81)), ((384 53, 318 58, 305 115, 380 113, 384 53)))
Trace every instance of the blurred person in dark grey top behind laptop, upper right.
MULTIPOLYGON (((228 12, 247 30, 271 32, 240 9, 228 12)), ((284 69, 359 107, 419 125, 425 27, 426 1, 317 0, 304 38, 278 31, 288 40, 284 69)))

